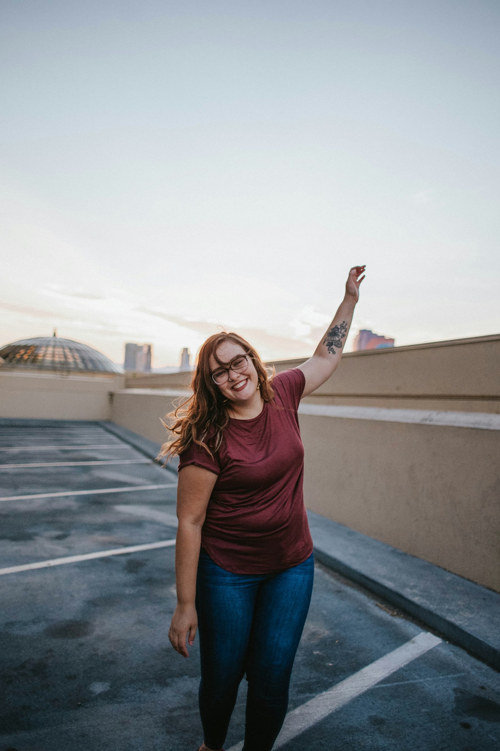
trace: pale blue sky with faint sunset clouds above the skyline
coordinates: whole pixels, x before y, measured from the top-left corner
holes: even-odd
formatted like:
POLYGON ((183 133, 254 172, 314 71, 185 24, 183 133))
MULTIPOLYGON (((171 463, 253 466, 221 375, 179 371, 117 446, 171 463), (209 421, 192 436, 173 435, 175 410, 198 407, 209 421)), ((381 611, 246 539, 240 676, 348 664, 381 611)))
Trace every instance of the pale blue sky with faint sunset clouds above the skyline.
POLYGON ((0 5, 0 345, 500 331, 496 0, 0 5))

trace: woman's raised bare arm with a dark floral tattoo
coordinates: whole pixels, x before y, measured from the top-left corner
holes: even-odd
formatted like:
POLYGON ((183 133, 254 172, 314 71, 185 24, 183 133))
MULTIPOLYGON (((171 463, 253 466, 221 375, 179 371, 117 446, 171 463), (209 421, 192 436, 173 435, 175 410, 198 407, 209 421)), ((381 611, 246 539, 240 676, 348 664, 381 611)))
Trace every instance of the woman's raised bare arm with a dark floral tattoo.
POLYGON ((328 381, 340 363, 343 345, 351 327, 352 314, 359 299, 359 285, 363 279, 364 266, 355 266, 349 271, 346 294, 335 313, 334 320, 316 347, 313 357, 298 366, 306 377, 303 397, 309 396, 328 381))

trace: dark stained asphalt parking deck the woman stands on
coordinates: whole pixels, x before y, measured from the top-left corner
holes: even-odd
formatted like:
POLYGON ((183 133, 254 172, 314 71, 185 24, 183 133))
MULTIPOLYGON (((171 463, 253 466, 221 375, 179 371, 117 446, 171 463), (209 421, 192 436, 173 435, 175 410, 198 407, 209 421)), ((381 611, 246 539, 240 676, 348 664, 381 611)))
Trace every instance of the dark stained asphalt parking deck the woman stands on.
MULTIPOLYGON (((0 569, 102 555, 0 575, 0 751, 201 743, 197 641, 184 660, 167 638, 174 547, 106 555, 175 538, 174 486, 99 424, 1 421, 0 569)), ((386 677, 371 670, 427 632, 384 607, 316 566, 290 693, 301 730, 280 747, 499 749, 500 676, 459 647, 436 639, 386 677), (350 695, 363 668, 371 683, 350 695)), ((244 695, 243 682, 226 749, 243 737, 244 695)))

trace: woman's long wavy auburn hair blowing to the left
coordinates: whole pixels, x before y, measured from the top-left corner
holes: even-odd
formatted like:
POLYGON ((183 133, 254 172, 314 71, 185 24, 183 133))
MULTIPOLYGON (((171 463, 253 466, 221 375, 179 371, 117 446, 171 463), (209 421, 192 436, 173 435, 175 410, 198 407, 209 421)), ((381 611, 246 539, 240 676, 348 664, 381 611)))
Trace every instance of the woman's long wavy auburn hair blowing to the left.
POLYGON ((259 389, 265 402, 274 400, 271 381, 274 378, 274 367, 266 369, 256 350, 243 336, 232 331, 221 331, 209 336, 199 349, 196 369, 193 372, 191 388, 193 396, 181 402, 173 412, 169 412, 163 422, 173 436, 163 444, 158 458, 176 457, 186 451, 191 443, 202 446, 208 454, 214 455, 219 450, 223 439, 223 432, 229 423, 230 402, 223 397, 220 389, 212 379, 210 370, 210 355, 220 365, 226 365, 217 357, 217 348, 223 342, 239 344, 246 354, 253 360, 253 365, 259 377, 259 389))

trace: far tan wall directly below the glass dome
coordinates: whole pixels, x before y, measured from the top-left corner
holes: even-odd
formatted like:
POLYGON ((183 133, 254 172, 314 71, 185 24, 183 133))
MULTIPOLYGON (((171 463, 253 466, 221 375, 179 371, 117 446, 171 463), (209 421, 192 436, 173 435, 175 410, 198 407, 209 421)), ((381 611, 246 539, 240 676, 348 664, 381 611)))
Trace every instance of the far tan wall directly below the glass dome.
POLYGON ((110 392, 123 386, 123 375, 0 371, 0 417, 109 420, 110 392))

